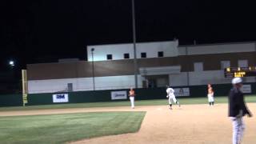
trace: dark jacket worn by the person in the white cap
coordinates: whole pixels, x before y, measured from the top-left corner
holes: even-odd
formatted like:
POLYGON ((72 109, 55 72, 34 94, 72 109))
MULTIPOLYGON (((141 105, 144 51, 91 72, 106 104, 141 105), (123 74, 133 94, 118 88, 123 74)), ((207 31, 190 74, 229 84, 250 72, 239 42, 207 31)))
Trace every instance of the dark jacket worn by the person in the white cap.
POLYGON ((249 114, 249 110, 246 107, 241 90, 234 87, 229 94, 229 117, 237 117, 239 114, 244 116, 249 114))

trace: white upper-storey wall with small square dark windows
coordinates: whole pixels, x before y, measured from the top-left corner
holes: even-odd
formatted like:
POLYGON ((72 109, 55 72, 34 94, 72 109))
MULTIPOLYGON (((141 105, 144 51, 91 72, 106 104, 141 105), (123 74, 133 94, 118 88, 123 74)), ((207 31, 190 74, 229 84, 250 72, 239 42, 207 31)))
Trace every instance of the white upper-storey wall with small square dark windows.
MULTIPOLYGON (((141 58, 141 53, 146 52, 146 58, 158 58, 158 51, 163 51, 164 57, 178 56, 178 41, 170 42, 138 42, 137 58, 141 58)), ((132 43, 87 46, 88 61, 92 61, 91 49, 94 48, 94 61, 106 61, 106 54, 112 54, 113 60, 124 59, 123 54, 130 54, 130 59, 134 58, 134 46, 132 43)))

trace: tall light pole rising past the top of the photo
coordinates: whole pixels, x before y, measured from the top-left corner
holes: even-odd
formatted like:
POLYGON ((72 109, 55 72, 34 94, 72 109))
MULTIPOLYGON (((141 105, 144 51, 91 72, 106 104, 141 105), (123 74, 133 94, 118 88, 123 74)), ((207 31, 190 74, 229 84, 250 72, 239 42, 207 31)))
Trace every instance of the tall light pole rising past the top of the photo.
POLYGON ((137 65, 137 50, 136 50, 136 26, 135 26, 135 4, 134 0, 131 0, 132 6, 132 19, 133 19, 133 42, 134 42, 134 84, 135 88, 138 88, 138 65, 137 65))

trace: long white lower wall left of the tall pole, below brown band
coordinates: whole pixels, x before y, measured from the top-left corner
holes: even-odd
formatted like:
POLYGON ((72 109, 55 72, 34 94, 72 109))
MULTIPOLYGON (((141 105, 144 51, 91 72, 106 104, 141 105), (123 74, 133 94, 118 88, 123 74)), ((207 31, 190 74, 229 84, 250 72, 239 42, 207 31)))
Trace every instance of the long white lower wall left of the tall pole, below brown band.
MULTIPOLYGON (((134 75, 95 77, 95 90, 129 89, 134 87, 134 75)), ((29 94, 66 92, 68 83, 73 91, 93 90, 93 78, 61 78, 28 81, 29 94)), ((138 87, 142 87, 142 77, 138 75, 138 87)))

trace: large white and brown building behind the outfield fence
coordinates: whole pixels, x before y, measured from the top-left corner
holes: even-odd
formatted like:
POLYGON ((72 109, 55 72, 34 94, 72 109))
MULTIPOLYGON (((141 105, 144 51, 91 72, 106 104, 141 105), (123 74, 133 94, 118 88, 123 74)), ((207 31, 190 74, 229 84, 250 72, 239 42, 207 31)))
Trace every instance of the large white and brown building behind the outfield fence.
MULTIPOLYGON (((128 89, 134 87, 134 58, 132 44, 119 44, 94 47, 95 90, 128 89), (106 54, 113 53, 116 60, 106 61, 106 54), (130 59, 123 59, 129 53, 130 59), (102 57, 102 58, 101 58, 102 57), (104 58, 103 58, 104 57, 104 58)), ((138 43, 138 71, 142 68, 154 70, 158 67, 180 66, 178 73, 138 75, 138 87, 146 78, 156 78, 159 86, 169 82, 172 86, 197 86, 230 83, 224 78, 223 62, 230 62, 231 67, 238 66, 238 60, 245 60, 248 66, 256 66, 256 45, 254 42, 230 43, 216 45, 180 46, 177 42, 138 43), (177 49, 178 48, 178 49, 177 49), (158 58, 158 51, 163 51, 163 58, 158 58), (147 58, 140 58, 146 52, 147 58), (194 63, 202 62, 202 70, 194 71, 194 63)), ((52 93, 67 90, 72 83, 74 91, 93 90, 93 62, 58 62, 27 65, 29 93, 52 93)), ((241 63, 241 62, 240 62, 241 63)), ((169 73, 170 72, 170 73, 169 73)), ((243 78, 245 82, 256 82, 255 77, 243 78)))

